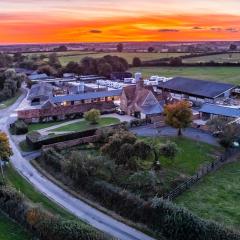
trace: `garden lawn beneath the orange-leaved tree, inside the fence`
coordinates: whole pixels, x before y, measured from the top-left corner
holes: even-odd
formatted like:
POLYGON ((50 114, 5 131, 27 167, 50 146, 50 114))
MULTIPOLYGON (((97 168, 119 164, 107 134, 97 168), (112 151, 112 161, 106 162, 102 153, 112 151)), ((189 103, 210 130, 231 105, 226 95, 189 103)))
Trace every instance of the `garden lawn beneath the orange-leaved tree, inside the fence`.
MULTIPOLYGON (((144 137, 142 139, 152 141, 152 138, 149 137, 144 137)), ((174 160, 161 157, 161 165, 164 168, 178 171, 186 175, 193 175, 200 166, 213 161, 216 152, 220 150, 212 145, 193 141, 184 137, 159 137, 155 139, 158 143, 165 143, 168 140, 177 144, 179 152, 174 160)))

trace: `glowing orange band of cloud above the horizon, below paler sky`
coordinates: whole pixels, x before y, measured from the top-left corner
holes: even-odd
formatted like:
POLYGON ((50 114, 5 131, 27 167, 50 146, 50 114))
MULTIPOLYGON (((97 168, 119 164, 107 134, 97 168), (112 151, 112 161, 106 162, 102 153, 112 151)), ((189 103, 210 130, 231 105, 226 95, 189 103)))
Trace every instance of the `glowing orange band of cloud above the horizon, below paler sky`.
MULTIPOLYGON (((1 14, 0 14, 1 15, 1 14)), ((5 14, 0 43, 239 40, 240 16, 158 15, 71 18, 5 14)))

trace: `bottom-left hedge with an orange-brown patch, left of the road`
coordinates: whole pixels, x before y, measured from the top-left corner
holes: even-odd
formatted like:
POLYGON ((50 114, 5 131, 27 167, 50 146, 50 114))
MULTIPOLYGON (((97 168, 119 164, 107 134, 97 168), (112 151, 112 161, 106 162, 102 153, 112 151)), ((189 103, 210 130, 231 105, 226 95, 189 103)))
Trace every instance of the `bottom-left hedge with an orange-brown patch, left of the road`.
POLYGON ((0 209, 42 240, 109 239, 85 223, 52 215, 8 186, 0 186, 0 209))

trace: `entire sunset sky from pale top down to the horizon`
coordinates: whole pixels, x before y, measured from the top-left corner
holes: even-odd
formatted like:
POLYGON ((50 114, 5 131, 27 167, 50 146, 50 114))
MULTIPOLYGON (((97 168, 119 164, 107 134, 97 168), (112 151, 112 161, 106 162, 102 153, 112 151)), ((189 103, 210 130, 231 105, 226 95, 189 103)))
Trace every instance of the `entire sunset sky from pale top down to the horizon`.
POLYGON ((0 44, 240 40, 240 0, 0 1, 0 44))

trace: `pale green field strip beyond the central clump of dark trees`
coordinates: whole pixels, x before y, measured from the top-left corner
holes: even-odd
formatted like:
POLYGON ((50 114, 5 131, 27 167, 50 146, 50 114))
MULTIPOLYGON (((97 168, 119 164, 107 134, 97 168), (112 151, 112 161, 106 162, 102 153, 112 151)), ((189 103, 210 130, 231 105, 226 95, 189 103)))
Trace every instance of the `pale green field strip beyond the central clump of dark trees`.
MULTIPOLYGON (((106 55, 112 55, 112 56, 119 56, 125 58, 128 63, 132 63, 132 60, 134 57, 139 57, 142 61, 149 61, 149 60, 155 60, 159 58, 168 58, 168 57, 178 57, 182 55, 186 55, 187 53, 128 53, 128 52, 104 52, 104 53, 81 53, 79 55, 75 56, 61 56, 59 57, 59 60, 62 65, 67 65, 70 61, 79 62, 84 57, 93 57, 93 58, 101 58, 106 55)), ((66 54, 67 55, 67 54, 66 54)), ((69 54, 70 55, 70 54, 69 54)))

